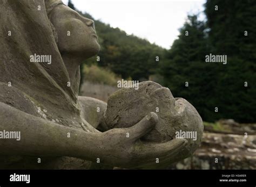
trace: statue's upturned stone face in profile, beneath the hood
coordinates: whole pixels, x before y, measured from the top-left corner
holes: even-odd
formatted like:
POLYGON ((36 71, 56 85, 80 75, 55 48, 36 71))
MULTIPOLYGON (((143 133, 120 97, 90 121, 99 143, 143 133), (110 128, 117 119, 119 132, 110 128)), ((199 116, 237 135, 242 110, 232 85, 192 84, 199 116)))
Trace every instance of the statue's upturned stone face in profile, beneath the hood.
POLYGON ((99 52, 93 20, 80 16, 64 4, 52 10, 50 19, 58 34, 60 53, 87 58, 99 52))

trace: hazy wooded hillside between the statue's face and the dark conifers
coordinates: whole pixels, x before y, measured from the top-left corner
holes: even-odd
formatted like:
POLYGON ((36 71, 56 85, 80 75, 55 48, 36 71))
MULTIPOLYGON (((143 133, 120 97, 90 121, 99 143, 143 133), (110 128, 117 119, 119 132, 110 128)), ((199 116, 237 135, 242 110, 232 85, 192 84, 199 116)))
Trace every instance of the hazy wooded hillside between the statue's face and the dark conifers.
MULTIPOLYGON (((87 13, 84 16, 93 19, 87 13)), ((95 20, 95 27, 101 46, 98 53, 100 61, 97 62, 96 57, 92 57, 86 64, 98 63, 122 78, 131 77, 133 80, 148 80, 151 74, 157 73, 156 56, 163 59, 165 49, 145 39, 127 35, 119 28, 112 28, 100 20, 95 20)))

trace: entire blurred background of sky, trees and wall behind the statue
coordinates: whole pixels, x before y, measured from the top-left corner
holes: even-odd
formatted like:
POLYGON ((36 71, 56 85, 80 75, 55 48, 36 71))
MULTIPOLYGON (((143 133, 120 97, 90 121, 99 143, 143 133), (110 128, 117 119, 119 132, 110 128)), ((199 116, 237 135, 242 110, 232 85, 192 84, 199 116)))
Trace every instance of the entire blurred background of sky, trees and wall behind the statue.
POLYGON ((107 102, 122 78, 157 82, 205 126, 201 147, 170 169, 256 169, 256 1, 63 2, 95 20, 101 46, 80 66, 80 95, 107 102), (227 64, 206 63, 210 53, 227 64))

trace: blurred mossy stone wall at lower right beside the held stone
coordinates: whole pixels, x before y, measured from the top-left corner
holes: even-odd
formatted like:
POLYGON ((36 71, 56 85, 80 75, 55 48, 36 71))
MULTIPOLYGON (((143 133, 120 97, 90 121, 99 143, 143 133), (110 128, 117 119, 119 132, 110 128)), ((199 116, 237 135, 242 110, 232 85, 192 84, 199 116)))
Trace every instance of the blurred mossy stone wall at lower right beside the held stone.
POLYGON ((204 132, 194 155, 170 169, 256 169, 256 135, 204 132))

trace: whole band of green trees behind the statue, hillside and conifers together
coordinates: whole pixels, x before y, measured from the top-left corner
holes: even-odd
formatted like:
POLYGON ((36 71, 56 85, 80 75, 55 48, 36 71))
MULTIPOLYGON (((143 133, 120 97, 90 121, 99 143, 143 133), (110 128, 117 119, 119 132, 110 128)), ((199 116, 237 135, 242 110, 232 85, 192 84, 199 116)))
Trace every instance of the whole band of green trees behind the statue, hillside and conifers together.
MULTIPOLYGON (((85 79, 98 76, 95 78, 98 82, 110 80, 111 83, 106 84, 114 85, 115 76, 110 70, 133 80, 160 75, 163 80, 158 80, 170 88, 173 96, 187 99, 204 120, 232 118, 253 123, 256 121, 255 10, 256 1, 252 0, 207 0, 207 21, 198 20, 197 15, 188 16, 169 51, 95 20, 100 61, 94 56, 85 63, 109 70, 106 73, 91 66, 93 75, 87 73, 85 79), (227 55, 227 64, 206 63, 205 55, 210 53, 227 55), (244 86, 245 82, 248 87, 244 86), (218 112, 214 111, 215 107, 218 112)), ((84 16, 93 19, 87 13, 84 16)))

